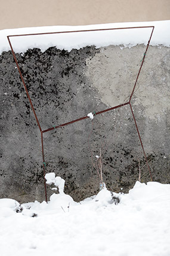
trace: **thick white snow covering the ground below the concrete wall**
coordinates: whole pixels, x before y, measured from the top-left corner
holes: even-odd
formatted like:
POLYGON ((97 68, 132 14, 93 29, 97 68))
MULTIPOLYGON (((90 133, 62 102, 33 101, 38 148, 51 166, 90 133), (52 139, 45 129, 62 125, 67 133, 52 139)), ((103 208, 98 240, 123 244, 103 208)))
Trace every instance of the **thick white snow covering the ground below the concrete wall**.
POLYGON ((169 256, 169 195, 170 185, 136 182, 128 194, 104 188, 76 203, 62 192, 22 211, 0 199, 1 256, 169 256))

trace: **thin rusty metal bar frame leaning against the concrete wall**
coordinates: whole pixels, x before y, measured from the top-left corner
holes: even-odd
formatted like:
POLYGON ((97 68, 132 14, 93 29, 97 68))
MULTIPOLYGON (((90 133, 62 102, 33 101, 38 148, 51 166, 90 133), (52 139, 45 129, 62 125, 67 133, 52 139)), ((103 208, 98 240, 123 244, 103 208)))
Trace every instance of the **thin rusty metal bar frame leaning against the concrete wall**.
POLYGON ((43 134, 45 132, 48 132, 48 131, 52 131, 53 129, 57 129, 57 128, 60 128, 60 127, 64 127, 66 125, 70 125, 70 124, 73 124, 75 122, 79 122, 79 121, 82 121, 84 119, 87 119, 89 118, 88 116, 84 116, 82 118, 79 118, 79 119, 76 119, 76 120, 73 120, 73 121, 70 121, 70 122, 66 122, 64 124, 61 124, 61 125, 57 125, 57 126, 53 126, 49 129, 45 129, 45 130, 42 130, 41 128, 41 125, 39 124, 39 121, 38 121, 38 117, 36 115, 36 112, 35 112, 35 109, 33 107, 33 104, 32 104, 32 100, 30 99, 30 96, 29 96, 29 92, 27 90, 27 87, 26 87, 26 83, 24 82, 24 79, 23 79, 23 75, 21 73, 21 70, 20 70, 20 67, 18 65, 18 62, 17 62, 17 58, 16 58, 16 55, 14 53, 14 50, 13 50, 13 46, 11 44, 11 41, 10 41, 10 37, 24 37, 24 36, 29 36, 29 35, 47 35, 47 34, 66 34, 66 33, 78 33, 78 32, 95 32, 95 31, 113 31, 113 30, 118 30, 118 29, 141 29, 141 28, 152 28, 152 32, 150 34, 150 38, 149 38, 149 41, 147 43, 147 46, 146 46, 146 50, 144 52, 144 56, 143 56, 143 59, 141 61, 141 65, 140 65, 140 69, 138 71, 138 74, 137 74, 137 78, 135 80, 135 84, 134 84, 134 87, 132 89, 132 92, 131 92, 131 96, 129 97, 129 100, 126 102, 126 103, 123 103, 123 104, 120 104, 118 106, 115 106, 115 107, 111 107, 110 109, 105 109, 105 110, 102 110, 100 112, 96 112, 95 115, 100 115, 104 112, 108 112, 110 110, 113 110, 113 109, 118 109, 120 107, 123 107, 123 106, 127 106, 129 105, 130 109, 131 109, 131 112, 132 112, 132 116, 133 116, 133 119, 134 119, 134 122, 135 122, 135 127, 137 129, 137 133, 138 133, 138 137, 140 139, 140 143, 141 143, 141 147, 143 149, 143 153, 144 153, 144 158, 146 159, 146 164, 147 164, 147 167, 148 167, 148 170, 149 170, 149 173, 150 173, 150 177, 151 177, 151 180, 152 180, 152 173, 150 171, 150 167, 149 167, 149 163, 147 161, 147 156, 146 156, 146 153, 145 153, 145 150, 144 150, 144 147, 143 147, 143 142, 141 140, 141 136, 140 136, 140 132, 139 132, 139 129, 138 129, 138 126, 137 126, 137 122, 135 120, 135 116, 134 116, 134 112, 132 110, 132 105, 131 105, 131 100, 132 100, 132 96, 134 94, 134 91, 135 91, 135 87, 137 85, 137 81, 138 81, 138 77, 140 76, 140 72, 141 72, 141 68, 143 67, 143 63, 144 63, 144 59, 146 58, 146 53, 147 53, 147 50, 148 50, 148 47, 149 47, 149 44, 150 44, 150 40, 152 38, 152 34, 153 34, 153 30, 154 30, 154 26, 140 26, 140 27, 130 27, 130 28, 109 28, 109 29, 89 29, 89 30, 81 30, 81 31, 61 31, 61 32, 48 32, 48 33, 37 33, 37 34, 23 34, 23 35, 8 35, 7 38, 8 38, 8 42, 10 44, 10 47, 11 47, 11 51, 13 53, 13 56, 14 56, 14 60, 17 64, 17 68, 18 68, 18 71, 20 73, 20 77, 21 77, 21 80, 23 82, 23 85, 24 85, 24 89, 26 91, 26 94, 27 94, 27 97, 29 98, 29 102, 30 102, 30 106, 32 107, 32 110, 33 110, 33 113, 35 115, 35 119, 36 119, 36 122, 38 124, 38 127, 39 127, 39 130, 41 132, 41 143, 42 143, 42 161, 43 161, 43 169, 44 169, 44 188, 45 188, 45 200, 47 201, 47 187, 46 187, 46 182, 45 182, 45 167, 46 167, 46 164, 45 164, 45 157, 44 157, 44 142, 43 142, 43 134))

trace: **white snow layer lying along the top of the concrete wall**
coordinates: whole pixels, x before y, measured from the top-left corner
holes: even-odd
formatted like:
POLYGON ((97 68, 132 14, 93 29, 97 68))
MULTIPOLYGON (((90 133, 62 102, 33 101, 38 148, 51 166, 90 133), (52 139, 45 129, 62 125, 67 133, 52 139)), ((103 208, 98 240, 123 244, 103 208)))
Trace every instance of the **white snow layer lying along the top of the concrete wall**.
MULTIPOLYGON (((170 20, 156 22, 128 22, 110 23, 88 26, 45 26, 36 28, 4 29, 0 31, 0 54, 10 50, 7 35, 36 34, 59 31, 79 31, 88 29, 129 28, 136 26, 154 26, 150 45, 163 45, 170 47, 170 20)), ((118 29, 112 31, 79 32, 48 35, 29 35, 24 37, 11 37, 14 52, 26 52, 34 47, 43 52, 49 47, 56 46, 60 50, 80 49, 85 46, 96 47, 123 45, 132 47, 137 44, 147 44, 152 28, 118 29)))

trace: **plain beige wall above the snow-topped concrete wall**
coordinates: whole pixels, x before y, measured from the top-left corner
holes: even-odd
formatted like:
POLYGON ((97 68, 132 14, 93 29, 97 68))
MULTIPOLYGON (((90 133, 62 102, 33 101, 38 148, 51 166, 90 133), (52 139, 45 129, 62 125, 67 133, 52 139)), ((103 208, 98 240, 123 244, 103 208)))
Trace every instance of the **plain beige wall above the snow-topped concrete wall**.
POLYGON ((0 29, 170 19, 170 0, 0 0, 0 29))

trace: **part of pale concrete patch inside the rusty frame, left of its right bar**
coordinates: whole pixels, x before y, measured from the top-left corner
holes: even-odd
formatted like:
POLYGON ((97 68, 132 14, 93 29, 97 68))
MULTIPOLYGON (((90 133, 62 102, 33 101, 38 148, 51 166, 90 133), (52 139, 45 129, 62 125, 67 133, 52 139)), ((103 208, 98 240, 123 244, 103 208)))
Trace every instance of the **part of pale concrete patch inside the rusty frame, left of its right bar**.
POLYGON ((102 47, 94 58, 86 60, 86 76, 104 104, 114 107, 129 100, 145 48, 102 47))

